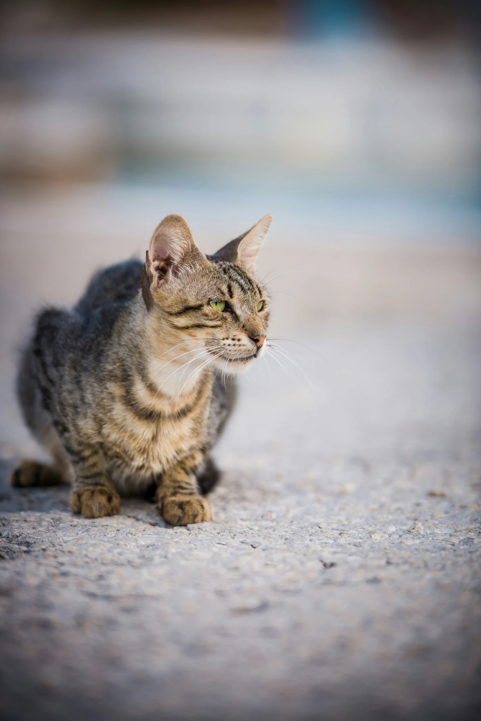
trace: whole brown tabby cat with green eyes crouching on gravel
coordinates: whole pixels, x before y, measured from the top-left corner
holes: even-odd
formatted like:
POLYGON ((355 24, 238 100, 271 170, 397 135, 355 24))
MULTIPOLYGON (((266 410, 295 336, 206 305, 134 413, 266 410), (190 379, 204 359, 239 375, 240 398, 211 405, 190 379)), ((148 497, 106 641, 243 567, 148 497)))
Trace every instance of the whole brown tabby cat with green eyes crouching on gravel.
POLYGON ((254 273, 271 220, 204 255, 184 218, 166 216, 145 263, 100 271, 72 311, 42 311, 17 394, 53 462, 22 461, 13 486, 71 482, 86 518, 119 513, 120 495, 150 495, 172 526, 211 520, 210 450, 233 408, 232 376, 267 346, 269 298, 254 273))

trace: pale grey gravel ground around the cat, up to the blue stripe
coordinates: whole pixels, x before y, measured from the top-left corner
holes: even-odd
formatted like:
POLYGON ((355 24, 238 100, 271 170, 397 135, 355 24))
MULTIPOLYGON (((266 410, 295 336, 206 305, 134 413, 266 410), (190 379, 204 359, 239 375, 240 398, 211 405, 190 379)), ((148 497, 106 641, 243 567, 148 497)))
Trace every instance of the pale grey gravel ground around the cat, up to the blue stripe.
MULTIPOLYGON (((87 520, 68 488, 6 485, 40 452, 15 348, 39 304, 69 305, 97 267, 140 257, 185 203, 156 191, 124 229, 138 196, 52 193, 0 214, 2 721, 477 718, 479 247, 293 245, 278 223, 259 276, 292 270, 293 248, 306 272, 269 286, 271 332, 312 349, 282 341, 315 388, 274 358, 243 376, 212 523, 166 528, 140 500, 87 520), (34 259, 20 274, 19 249, 34 259)), ((226 211, 211 236, 181 212, 207 252, 248 227, 226 211)))

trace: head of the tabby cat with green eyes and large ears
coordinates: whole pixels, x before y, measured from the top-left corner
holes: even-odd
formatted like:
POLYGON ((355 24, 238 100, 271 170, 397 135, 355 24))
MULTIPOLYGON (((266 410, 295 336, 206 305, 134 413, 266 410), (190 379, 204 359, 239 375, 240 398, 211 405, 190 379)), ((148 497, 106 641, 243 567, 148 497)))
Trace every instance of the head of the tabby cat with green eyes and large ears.
POLYGON ((204 255, 184 218, 163 218, 145 255, 142 292, 172 346, 199 349, 227 373, 245 370, 264 353, 269 298, 254 273, 271 220, 265 216, 214 255, 204 255))

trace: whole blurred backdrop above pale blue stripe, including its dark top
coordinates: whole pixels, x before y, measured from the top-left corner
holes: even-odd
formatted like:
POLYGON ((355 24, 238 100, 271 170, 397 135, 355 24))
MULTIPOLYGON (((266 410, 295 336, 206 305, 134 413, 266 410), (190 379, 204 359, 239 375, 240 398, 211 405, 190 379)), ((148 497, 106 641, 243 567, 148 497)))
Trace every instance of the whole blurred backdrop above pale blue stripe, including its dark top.
POLYGON ((469 3, 421 4, 431 26, 404 5, 6 3, 0 174, 106 180, 200 163, 244 180, 474 193, 469 3))

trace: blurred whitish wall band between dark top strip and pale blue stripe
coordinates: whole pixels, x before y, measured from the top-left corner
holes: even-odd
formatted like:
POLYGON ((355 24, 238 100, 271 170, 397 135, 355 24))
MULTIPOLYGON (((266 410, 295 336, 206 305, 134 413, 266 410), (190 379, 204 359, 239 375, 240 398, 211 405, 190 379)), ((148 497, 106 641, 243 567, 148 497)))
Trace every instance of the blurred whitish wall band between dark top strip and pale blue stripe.
POLYGON ((459 48, 116 35, 6 41, 2 55, 4 177, 203 162, 349 185, 479 178, 477 68, 459 48))

